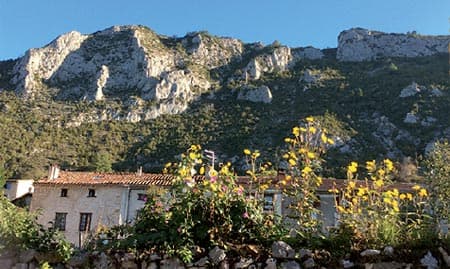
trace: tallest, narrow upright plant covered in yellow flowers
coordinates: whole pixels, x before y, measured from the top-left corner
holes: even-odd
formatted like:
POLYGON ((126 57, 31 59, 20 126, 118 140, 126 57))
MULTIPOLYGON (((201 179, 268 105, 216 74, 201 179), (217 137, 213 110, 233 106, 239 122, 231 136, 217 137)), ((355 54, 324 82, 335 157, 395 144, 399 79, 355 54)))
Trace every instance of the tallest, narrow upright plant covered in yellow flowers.
POLYGON ((321 155, 329 145, 334 144, 325 129, 313 117, 307 117, 302 126, 292 129, 292 136, 285 138, 288 152, 283 155, 289 169, 279 183, 288 199, 288 218, 295 220, 292 229, 303 239, 321 235, 320 210, 317 187, 322 184, 321 155))

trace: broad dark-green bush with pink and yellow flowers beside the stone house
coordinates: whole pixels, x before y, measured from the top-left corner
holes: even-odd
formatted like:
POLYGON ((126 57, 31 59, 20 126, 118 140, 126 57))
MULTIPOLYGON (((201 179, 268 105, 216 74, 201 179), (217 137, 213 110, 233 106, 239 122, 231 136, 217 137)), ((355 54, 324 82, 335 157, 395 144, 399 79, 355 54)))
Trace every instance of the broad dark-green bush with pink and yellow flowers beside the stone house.
POLYGON ((138 250, 153 249, 187 262, 201 248, 237 251, 246 244, 267 245, 277 237, 274 217, 263 213, 257 193, 246 193, 237 184, 230 164, 214 170, 194 145, 166 170, 176 179, 169 189, 149 193, 135 224, 138 250))

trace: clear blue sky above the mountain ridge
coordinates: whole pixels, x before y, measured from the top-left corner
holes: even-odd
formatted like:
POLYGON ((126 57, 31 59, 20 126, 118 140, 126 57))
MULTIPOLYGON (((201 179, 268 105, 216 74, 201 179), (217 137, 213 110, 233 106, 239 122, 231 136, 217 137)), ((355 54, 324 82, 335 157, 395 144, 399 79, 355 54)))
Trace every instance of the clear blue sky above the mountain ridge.
POLYGON ((72 30, 90 34, 114 25, 334 48, 339 33, 352 27, 449 35, 449 18, 450 0, 0 0, 0 60, 72 30))

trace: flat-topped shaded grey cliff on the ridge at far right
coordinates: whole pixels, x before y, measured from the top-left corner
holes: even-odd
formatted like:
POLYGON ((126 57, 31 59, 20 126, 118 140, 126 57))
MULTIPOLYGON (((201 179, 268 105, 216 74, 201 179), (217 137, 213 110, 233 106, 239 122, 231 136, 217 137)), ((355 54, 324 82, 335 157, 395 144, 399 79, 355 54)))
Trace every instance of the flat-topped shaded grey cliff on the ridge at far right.
POLYGON ((418 57, 448 52, 450 36, 387 34, 362 28, 343 31, 338 37, 337 59, 370 61, 383 57, 418 57))

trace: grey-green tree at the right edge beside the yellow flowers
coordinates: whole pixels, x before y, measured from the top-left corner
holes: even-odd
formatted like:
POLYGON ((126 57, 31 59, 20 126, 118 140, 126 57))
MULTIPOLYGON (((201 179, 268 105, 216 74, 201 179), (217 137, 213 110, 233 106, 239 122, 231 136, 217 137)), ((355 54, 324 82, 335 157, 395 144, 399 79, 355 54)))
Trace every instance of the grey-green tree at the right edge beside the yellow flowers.
POLYGON ((436 142, 425 161, 434 209, 439 219, 450 219, 450 144, 436 142))

